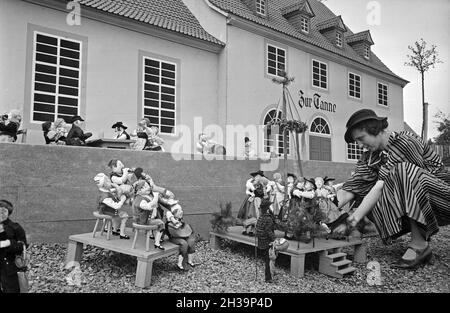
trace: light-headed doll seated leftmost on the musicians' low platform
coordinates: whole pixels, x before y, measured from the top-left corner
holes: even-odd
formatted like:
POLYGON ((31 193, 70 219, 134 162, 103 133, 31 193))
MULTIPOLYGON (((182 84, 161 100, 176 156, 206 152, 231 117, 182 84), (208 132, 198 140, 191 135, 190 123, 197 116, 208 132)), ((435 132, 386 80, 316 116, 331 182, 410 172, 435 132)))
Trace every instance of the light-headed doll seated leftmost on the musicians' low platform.
POLYGON ((128 214, 122 210, 122 206, 126 200, 125 195, 119 195, 118 190, 113 188, 111 180, 104 173, 95 175, 94 181, 99 191, 97 200, 98 212, 113 217, 113 235, 120 235, 120 239, 130 239, 130 237, 125 234, 125 225, 128 220, 128 214))

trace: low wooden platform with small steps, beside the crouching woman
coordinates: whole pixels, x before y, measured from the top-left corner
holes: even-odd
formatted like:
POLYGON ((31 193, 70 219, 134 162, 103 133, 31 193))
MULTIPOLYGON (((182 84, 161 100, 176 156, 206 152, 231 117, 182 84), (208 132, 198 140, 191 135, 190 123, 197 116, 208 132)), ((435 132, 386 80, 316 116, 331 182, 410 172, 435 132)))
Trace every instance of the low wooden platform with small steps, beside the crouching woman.
MULTIPOLYGON (((220 240, 228 239, 240 243, 244 243, 250 246, 255 246, 256 240, 255 237, 249 237, 242 234, 242 226, 233 226, 228 229, 226 233, 217 233, 210 232, 210 245, 212 249, 220 248, 220 240)), ((284 233, 280 231, 275 231, 277 237, 282 237, 284 233)), ((327 259, 330 255, 330 252, 337 253, 343 247, 353 246, 354 247, 354 256, 353 261, 357 263, 365 263, 366 262, 366 245, 360 239, 350 239, 347 240, 334 240, 334 239, 322 239, 316 238, 313 242, 310 243, 302 243, 296 240, 288 240, 289 248, 286 251, 280 251, 282 254, 289 255, 291 257, 291 275, 296 277, 303 277, 305 275, 305 256, 307 253, 319 252, 321 257, 320 266, 323 268, 319 268, 319 271, 330 275, 338 277, 339 273, 336 275, 332 275, 330 268, 325 268, 322 259, 327 259)), ((342 261, 343 253, 340 254, 342 261)), ((344 256, 345 257, 345 256, 344 256)), ((342 262, 343 263, 343 262, 342 262)), ((350 262, 351 263, 351 262, 350 262)), ((339 263, 338 263, 339 264, 339 263)), ((329 267, 332 267, 331 264, 329 267)), ((335 271, 337 272, 340 268, 339 265, 335 266, 335 271)), ((333 268, 333 267, 332 267, 333 268)), ((333 268, 334 269, 334 268, 333 268)), ((350 272, 350 271, 348 271, 350 272)))

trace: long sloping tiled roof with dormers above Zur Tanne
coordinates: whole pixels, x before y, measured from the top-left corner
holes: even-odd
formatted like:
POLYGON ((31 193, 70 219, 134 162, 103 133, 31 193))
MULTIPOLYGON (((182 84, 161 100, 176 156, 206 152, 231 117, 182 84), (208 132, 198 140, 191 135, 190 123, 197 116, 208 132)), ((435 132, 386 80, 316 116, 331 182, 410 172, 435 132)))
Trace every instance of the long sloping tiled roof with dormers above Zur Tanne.
MULTIPOLYGON (((283 8, 294 6, 299 0, 272 0, 268 2, 267 16, 262 17, 256 15, 247 5, 241 0, 209 0, 213 5, 218 8, 231 13, 233 15, 239 16, 246 20, 252 21, 261 26, 270 28, 279 33, 285 34, 287 36, 293 37, 300 41, 312 44, 316 47, 322 48, 326 51, 332 52, 344 58, 356 61, 360 64, 366 65, 370 68, 379 70, 385 74, 393 76, 397 79, 405 81, 405 79, 397 76, 393 73, 374 53, 371 53, 369 60, 360 56, 355 50, 352 49, 347 43, 343 44, 342 48, 336 47, 333 43, 328 41, 328 39, 317 30, 317 24, 335 18, 336 15, 328 9, 323 3, 317 0, 304 0, 308 1, 312 11, 315 16, 311 18, 310 34, 303 34, 299 29, 296 29, 291 25, 285 17, 283 17, 281 10, 283 8)), ((353 35, 353 33, 348 29, 344 33, 344 37, 348 35, 353 35)))

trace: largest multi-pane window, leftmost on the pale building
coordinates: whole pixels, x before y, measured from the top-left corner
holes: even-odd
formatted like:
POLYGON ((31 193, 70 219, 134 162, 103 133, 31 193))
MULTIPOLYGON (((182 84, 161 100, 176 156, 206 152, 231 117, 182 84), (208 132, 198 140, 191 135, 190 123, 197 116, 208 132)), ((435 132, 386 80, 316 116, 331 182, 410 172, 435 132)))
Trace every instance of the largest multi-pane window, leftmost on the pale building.
POLYGON ((79 114, 80 41, 34 32, 31 122, 79 114))

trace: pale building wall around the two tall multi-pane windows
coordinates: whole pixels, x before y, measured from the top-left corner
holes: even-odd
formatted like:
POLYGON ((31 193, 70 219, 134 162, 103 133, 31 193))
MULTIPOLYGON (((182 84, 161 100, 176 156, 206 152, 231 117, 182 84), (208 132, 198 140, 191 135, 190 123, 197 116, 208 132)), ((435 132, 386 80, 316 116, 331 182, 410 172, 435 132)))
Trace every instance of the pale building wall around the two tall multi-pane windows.
MULTIPOLYGON (((23 108, 24 102, 30 102, 30 94, 25 91, 30 83, 26 79, 31 66, 26 66, 27 51, 32 49, 32 42, 27 40, 30 25, 86 38, 86 115, 83 117, 86 130, 94 135, 111 138, 114 122, 123 121, 133 129, 141 118, 138 114, 141 51, 179 62, 178 124, 193 129, 196 116, 202 117, 203 124, 218 122, 216 53, 83 18, 83 15, 80 26, 69 26, 65 12, 16 0, 0 2, 0 40, 8 43, 0 46, 1 112, 23 108)), ((44 143, 40 123, 28 122, 24 124, 29 129, 27 142, 44 143)), ((177 139, 164 135, 163 138, 168 149, 177 139)))

